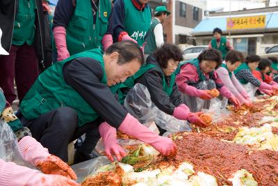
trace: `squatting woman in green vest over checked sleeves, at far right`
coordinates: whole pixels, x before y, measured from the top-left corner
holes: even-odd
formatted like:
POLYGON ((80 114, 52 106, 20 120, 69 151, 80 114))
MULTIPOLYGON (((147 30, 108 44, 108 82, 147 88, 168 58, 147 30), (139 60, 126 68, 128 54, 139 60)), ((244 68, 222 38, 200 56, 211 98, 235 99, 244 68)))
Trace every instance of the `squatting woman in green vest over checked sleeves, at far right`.
POLYGON ((235 71, 234 74, 239 82, 243 85, 251 99, 254 99, 254 95, 258 90, 276 90, 275 86, 260 82, 259 79, 252 74, 253 70, 258 68, 261 57, 257 55, 247 56, 245 63, 242 63, 235 71))

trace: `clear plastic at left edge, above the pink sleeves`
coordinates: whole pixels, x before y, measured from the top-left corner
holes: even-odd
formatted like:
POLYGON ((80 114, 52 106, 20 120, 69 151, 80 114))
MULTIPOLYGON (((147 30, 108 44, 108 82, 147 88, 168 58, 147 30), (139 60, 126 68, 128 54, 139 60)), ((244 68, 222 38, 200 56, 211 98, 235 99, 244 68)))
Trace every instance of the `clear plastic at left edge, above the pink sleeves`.
POLYGON ((8 123, 2 120, 0 120, 0 159, 33 168, 31 164, 22 159, 18 150, 17 137, 8 123))

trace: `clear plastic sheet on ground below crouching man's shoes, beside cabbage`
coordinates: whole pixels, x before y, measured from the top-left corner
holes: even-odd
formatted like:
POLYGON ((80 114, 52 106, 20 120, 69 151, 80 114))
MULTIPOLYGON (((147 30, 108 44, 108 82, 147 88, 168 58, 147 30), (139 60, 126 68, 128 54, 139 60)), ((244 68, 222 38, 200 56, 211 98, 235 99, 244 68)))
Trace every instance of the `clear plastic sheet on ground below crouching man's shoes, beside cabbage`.
POLYGON ((72 165, 72 169, 76 173, 77 182, 81 183, 87 176, 94 174, 97 169, 111 162, 105 156, 96 157, 86 162, 72 165))

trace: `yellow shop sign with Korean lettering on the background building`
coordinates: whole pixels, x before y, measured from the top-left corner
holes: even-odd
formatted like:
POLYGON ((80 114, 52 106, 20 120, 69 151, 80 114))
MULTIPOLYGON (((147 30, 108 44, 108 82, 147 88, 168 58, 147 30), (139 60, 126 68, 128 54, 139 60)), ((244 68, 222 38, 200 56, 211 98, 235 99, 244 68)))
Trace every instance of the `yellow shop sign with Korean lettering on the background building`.
POLYGON ((227 18, 227 30, 258 29, 265 27, 265 15, 227 18))

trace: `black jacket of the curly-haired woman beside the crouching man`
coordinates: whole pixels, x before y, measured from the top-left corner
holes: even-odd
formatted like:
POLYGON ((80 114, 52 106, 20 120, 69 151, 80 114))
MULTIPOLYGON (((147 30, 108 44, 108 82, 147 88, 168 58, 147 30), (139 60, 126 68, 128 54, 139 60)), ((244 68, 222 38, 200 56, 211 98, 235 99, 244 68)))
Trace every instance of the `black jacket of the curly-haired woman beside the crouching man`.
MULTIPOLYGON (((160 66, 152 54, 147 58, 146 63, 160 66)), ((165 77, 165 81, 167 84, 170 83, 170 77, 165 77)), ((144 75, 136 79, 136 83, 143 84, 148 88, 152 102, 154 102, 158 109, 166 114, 172 115, 174 108, 183 103, 181 101, 181 94, 178 91, 177 84, 174 84, 170 96, 163 91, 163 72, 158 70, 158 68, 152 68, 145 72, 144 75)))

